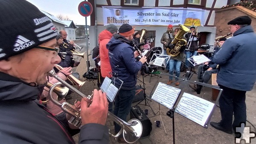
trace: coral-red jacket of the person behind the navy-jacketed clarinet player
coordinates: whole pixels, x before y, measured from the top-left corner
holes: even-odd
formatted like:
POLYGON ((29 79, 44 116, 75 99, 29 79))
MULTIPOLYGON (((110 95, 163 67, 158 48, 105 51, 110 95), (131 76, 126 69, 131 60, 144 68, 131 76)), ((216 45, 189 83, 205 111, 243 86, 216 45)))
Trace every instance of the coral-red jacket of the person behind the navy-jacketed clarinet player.
POLYGON ((106 29, 99 33, 100 71, 103 78, 112 77, 112 75, 110 75, 112 69, 109 63, 108 49, 106 48, 106 44, 109 42, 111 37, 111 32, 107 31, 106 29))

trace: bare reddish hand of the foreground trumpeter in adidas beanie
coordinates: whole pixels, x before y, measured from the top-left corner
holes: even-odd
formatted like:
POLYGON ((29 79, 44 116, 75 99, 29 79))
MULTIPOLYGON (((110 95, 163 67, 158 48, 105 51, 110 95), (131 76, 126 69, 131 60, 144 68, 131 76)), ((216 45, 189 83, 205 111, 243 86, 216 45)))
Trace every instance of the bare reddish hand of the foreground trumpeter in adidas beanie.
POLYGON ((96 123, 106 124, 108 116, 108 100, 106 93, 102 93, 102 90, 94 89, 93 101, 88 107, 87 101, 81 99, 81 119, 82 124, 96 123))

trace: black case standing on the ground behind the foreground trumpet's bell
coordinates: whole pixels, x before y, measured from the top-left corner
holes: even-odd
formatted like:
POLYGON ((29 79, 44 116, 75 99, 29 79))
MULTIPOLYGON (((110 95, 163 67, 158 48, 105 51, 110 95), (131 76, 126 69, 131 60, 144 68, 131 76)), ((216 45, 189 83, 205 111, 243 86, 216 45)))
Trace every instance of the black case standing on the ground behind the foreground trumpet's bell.
POLYGON ((143 129, 140 138, 147 138, 152 130, 152 123, 139 106, 131 107, 130 118, 136 118, 141 122, 143 129))

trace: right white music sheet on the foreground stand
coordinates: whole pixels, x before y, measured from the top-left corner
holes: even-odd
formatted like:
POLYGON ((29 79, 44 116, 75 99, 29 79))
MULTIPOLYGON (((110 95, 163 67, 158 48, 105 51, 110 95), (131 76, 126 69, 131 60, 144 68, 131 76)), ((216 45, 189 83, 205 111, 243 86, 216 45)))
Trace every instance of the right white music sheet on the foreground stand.
POLYGON ((195 95, 184 92, 175 112, 204 127, 214 104, 195 95))

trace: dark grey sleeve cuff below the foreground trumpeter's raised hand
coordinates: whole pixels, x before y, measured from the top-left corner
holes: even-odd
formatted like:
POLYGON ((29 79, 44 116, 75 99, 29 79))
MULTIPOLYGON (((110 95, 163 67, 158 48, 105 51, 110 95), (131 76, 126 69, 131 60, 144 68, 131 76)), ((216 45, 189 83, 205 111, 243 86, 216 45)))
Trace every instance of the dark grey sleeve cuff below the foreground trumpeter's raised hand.
POLYGON ((79 144, 108 144, 108 127, 101 124, 85 124, 81 127, 79 144))

